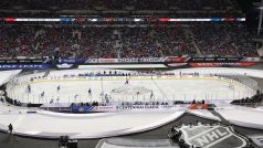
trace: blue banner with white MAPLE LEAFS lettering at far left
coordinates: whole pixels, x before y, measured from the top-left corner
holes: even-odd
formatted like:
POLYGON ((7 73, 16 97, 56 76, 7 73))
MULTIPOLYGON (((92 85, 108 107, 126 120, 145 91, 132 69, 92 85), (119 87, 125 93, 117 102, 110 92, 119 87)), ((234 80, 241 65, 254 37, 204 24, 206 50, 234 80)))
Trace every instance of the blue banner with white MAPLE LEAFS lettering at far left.
POLYGON ((51 67, 51 64, 0 64, 0 70, 45 70, 51 67))

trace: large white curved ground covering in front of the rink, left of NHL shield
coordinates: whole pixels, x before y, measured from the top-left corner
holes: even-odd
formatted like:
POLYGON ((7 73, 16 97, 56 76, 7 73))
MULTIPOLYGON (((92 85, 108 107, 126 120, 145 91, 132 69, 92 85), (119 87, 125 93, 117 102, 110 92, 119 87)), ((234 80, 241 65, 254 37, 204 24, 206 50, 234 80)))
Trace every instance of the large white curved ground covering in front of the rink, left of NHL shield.
MULTIPOLYGON (((0 104, 0 110, 4 104, 0 104)), ((39 110, 36 110, 39 112, 39 110)), ((44 114, 27 114, 10 112, 0 114, 0 128, 6 129, 9 124, 14 133, 32 137, 57 138, 70 135, 71 138, 96 138, 125 135, 157 128, 180 117, 185 110, 169 112, 122 112, 98 116, 71 118, 65 116, 50 116, 44 114)))

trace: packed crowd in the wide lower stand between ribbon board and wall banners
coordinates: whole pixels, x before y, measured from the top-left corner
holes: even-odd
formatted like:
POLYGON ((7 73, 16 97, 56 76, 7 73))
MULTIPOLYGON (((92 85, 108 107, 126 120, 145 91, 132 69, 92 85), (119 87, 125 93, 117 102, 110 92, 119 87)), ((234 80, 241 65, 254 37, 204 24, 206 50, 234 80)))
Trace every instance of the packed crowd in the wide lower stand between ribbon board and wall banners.
POLYGON ((0 27, 0 57, 77 59, 256 55, 240 24, 189 27, 0 27), (189 33, 190 32, 190 33, 189 33), (194 43, 196 46, 194 46, 194 43))

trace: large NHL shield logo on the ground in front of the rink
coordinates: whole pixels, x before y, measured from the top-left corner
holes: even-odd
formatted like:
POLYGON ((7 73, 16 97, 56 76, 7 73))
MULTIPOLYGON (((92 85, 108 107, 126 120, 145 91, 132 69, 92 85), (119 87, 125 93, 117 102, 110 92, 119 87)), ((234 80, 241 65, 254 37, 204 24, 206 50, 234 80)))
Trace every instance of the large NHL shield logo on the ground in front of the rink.
POLYGON ((193 147, 243 148, 248 146, 246 138, 235 134, 230 126, 182 126, 178 130, 182 133, 180 139, 193 147))

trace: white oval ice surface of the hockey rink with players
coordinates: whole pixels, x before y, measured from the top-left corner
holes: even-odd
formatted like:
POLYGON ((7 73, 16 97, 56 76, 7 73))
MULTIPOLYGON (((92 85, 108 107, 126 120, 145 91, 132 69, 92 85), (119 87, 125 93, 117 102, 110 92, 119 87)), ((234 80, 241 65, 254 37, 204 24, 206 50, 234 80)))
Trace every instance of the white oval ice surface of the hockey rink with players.
POLYGON ((172 102, 172 101, 232 101, 252 96, 254 91, 231 80, 217 76, 125 76, 48 77, 15 85, 8 91, 21 103, 45 104, 102 102, 172 102), (31 93, 27 91, 31 85, 31 93), (57 91, 60 86, 60 91, 57 91), (230 87, 231 86, 231 87, 230 87), (91 88, 92 93, 88 93, 91 88), (41 93, 44 96, 41 97, 41 93))

